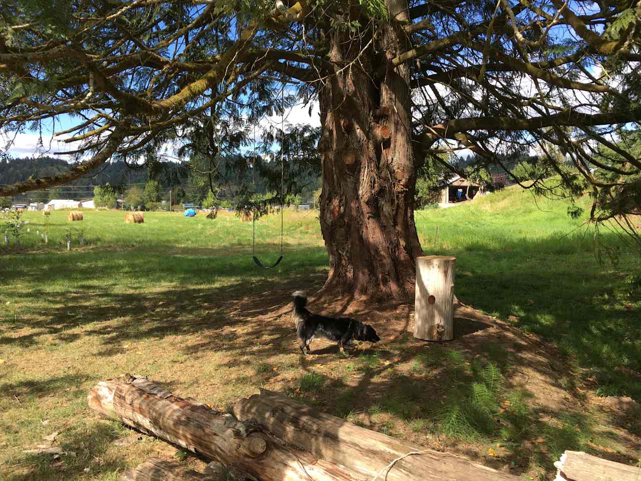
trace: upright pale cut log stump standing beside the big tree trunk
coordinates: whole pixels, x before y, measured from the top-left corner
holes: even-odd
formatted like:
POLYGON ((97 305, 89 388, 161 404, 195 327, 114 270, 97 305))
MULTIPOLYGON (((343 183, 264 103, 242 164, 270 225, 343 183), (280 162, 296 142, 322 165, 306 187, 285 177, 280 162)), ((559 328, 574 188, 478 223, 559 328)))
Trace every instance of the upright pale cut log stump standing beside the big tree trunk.
POLYGON ((417 257, 414 337, 426 341, 454 338, 455 268, 456 257, 417 257))

